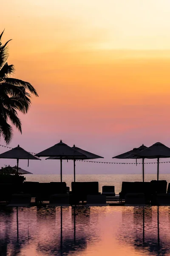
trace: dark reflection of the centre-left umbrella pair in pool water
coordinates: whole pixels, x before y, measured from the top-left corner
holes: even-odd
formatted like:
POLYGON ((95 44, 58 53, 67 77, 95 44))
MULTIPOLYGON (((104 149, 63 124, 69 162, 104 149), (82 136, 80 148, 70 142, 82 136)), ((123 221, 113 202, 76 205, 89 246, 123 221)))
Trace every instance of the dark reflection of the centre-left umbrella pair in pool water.
MULTIPOLYGON (((41 251, 42 253, 48 253, 48 255, 70 255, 74 251, 78 250, 79 252, 82 252, 83 250, 85 250, 85 248, 87 247, 87 238, 89 237, 89 234, 86 234, 83 232, 83 230, 81 230, 81 233, 76 238, 76 222, 74 222, 73 229, 72 225, 70 225, 70 219, 67 219, 70 209, 71 207, 50 207, 50 215, 53 215, 52 212, 56 212, 57 218, 55 219, 55 221, 57 226, 55 226, 54 228, 53 222, 49 221, 49 235, 51 234, 51 237, 48 236, 48 239, 44 240, 42 236, 42 239, 38 241, 37 250, 41 251), (50 231, 51 226, 53 227, 52 233, 50 231)), ((40 209, 40 212, 42 212, 42 214, 43 212, 45 213, 45 211, 44 209, 40 209)), ((39 214, 41 214, 40 212, 39 214)), ((37 218, 37 221, 39 221, 38 219, 39 217, 37 218)), ((76 218, 74 218, 74 220, 76 220, 76 218)), ((44 222, 45 226, 48 225, 48 223, 46 222, 46 220, 40 218, 40 226, 43 232, 42 222, 44 222)))

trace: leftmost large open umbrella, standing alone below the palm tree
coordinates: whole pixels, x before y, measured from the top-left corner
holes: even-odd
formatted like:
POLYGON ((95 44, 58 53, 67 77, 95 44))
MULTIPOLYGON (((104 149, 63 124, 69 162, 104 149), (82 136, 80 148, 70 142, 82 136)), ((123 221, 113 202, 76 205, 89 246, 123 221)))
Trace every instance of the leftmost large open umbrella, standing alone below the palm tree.
POLYGON ((12 148, 11 150, 8 150, 0 154, 0 158, 17 159, 17 174, 19 159, 28 159, 28 161, 41 160, 39 157, 36 157, 33 154, 26 151, 25 149, 21 148, 20 145, 18 145, 16 148, 12 148))

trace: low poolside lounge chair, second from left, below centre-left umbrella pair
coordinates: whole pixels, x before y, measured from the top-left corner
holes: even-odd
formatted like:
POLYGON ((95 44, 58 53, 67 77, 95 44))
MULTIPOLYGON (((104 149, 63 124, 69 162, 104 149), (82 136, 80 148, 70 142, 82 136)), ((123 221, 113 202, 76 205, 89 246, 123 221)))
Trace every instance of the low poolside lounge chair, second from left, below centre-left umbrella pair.
POLYGON ((51 195, 49 206, 69 206, 69 195, 67 193, 51 195))

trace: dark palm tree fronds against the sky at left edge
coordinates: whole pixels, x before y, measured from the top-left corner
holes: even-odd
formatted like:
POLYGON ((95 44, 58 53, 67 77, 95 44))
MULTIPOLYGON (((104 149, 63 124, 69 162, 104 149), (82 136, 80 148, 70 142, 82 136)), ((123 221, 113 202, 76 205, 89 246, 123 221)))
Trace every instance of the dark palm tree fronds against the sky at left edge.
POLYGON ((7 44, 11 40, 2 44, 3 32, 0 34, 0 137, 3 137, 6 144, 9 144, 13 136, 11 125, 22 133, 17 111, 26 114, 31 106, 31 94, 35 96, 38 94, 29 82, 10 77, 14 73, 14 65, 8 65, 6 61, 8 58, 7 44))

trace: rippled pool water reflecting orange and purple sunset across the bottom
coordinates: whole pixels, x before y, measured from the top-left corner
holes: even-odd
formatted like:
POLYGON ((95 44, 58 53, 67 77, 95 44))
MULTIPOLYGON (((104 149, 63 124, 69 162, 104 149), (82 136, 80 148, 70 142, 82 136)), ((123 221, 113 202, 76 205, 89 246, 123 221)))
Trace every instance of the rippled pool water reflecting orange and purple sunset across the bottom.
POLYGON ((170 207, 0 208, 0 256, 170 255, 170 207))

